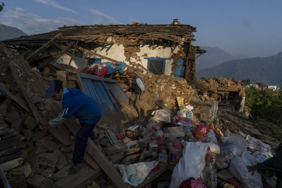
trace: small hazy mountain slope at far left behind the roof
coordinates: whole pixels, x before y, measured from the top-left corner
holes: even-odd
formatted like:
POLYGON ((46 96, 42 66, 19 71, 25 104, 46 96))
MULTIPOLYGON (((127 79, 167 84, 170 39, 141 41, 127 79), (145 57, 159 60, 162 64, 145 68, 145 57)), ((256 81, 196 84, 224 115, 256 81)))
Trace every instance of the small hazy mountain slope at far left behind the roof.
POLYGON ((27 35, 18 28, 0 24, 0 41, 27 35))

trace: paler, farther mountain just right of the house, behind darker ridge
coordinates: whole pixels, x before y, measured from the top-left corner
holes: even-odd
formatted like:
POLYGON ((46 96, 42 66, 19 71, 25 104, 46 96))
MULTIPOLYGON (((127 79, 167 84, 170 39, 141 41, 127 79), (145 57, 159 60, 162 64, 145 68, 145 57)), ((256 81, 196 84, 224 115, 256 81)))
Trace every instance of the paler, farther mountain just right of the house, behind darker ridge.
POLYGON ((200 46, 200 48, 207 50, 207 53, 204 53, 196 59, 196 69, 214 67, 224 63, 225 61, 234 59, 249 58, 247 55, 232 56, 217 47, 200 46))

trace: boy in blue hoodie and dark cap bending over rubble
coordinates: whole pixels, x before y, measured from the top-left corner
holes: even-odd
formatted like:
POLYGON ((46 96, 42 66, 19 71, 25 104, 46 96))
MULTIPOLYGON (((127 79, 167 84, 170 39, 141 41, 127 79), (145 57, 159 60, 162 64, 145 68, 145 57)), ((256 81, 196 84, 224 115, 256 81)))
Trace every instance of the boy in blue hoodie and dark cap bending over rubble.
POLYGON ((68 169, 72 174, 78 172, 82 167, 84 153, 87 145, 88 137, 98 145, 93 129, 101 119, 102 110, 100 105, 82 93, 79 89, 63 88, 61 80, 52 80, 46 86, 46 93, 42 98, 52 98, 53 100, 63 100, 62 112, 58 117, 50 121, 40 121, 39 125, 57 126, 72 116, 79 119, 81 128, 75 135, 75 145, 73 152, 73 166, 68 169))

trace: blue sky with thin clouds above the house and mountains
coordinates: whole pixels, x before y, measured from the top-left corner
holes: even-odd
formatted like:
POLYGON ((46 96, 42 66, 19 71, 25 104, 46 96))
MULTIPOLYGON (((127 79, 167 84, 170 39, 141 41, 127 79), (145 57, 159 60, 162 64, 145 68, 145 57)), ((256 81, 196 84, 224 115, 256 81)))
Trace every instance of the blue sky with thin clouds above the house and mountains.
POLYGON ((237 56, 266 57, 282 51, 282 1, 2 0, 0 23, 27 34, 63 25, 181 24, 197 27, 193 45, 219 47, 237 56))

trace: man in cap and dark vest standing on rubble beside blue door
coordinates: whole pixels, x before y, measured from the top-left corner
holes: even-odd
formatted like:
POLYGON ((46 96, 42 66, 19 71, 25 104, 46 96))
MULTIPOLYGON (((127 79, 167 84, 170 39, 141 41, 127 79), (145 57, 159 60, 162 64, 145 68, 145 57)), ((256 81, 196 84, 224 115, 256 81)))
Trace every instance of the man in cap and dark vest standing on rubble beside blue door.
POLYGON ((144 121, 144 118, 142 117, 142 100, 143 100, 143 94, 145 92, 145 87, 142 78, 140 75, 134 73, 134 69, 132 67, 127 68, 127 75, 129 75, 132 78, 131 85, 129 85, 126 89, 125 92, 131 87, 134 87, 134 93, 132 93, 129 101, 129 105, 124 105, 125 108, 128 110, 131 110, 133 101, 136 100, 136 107, 139 113, 139 119, 137 120, 138 122, 144 121))

